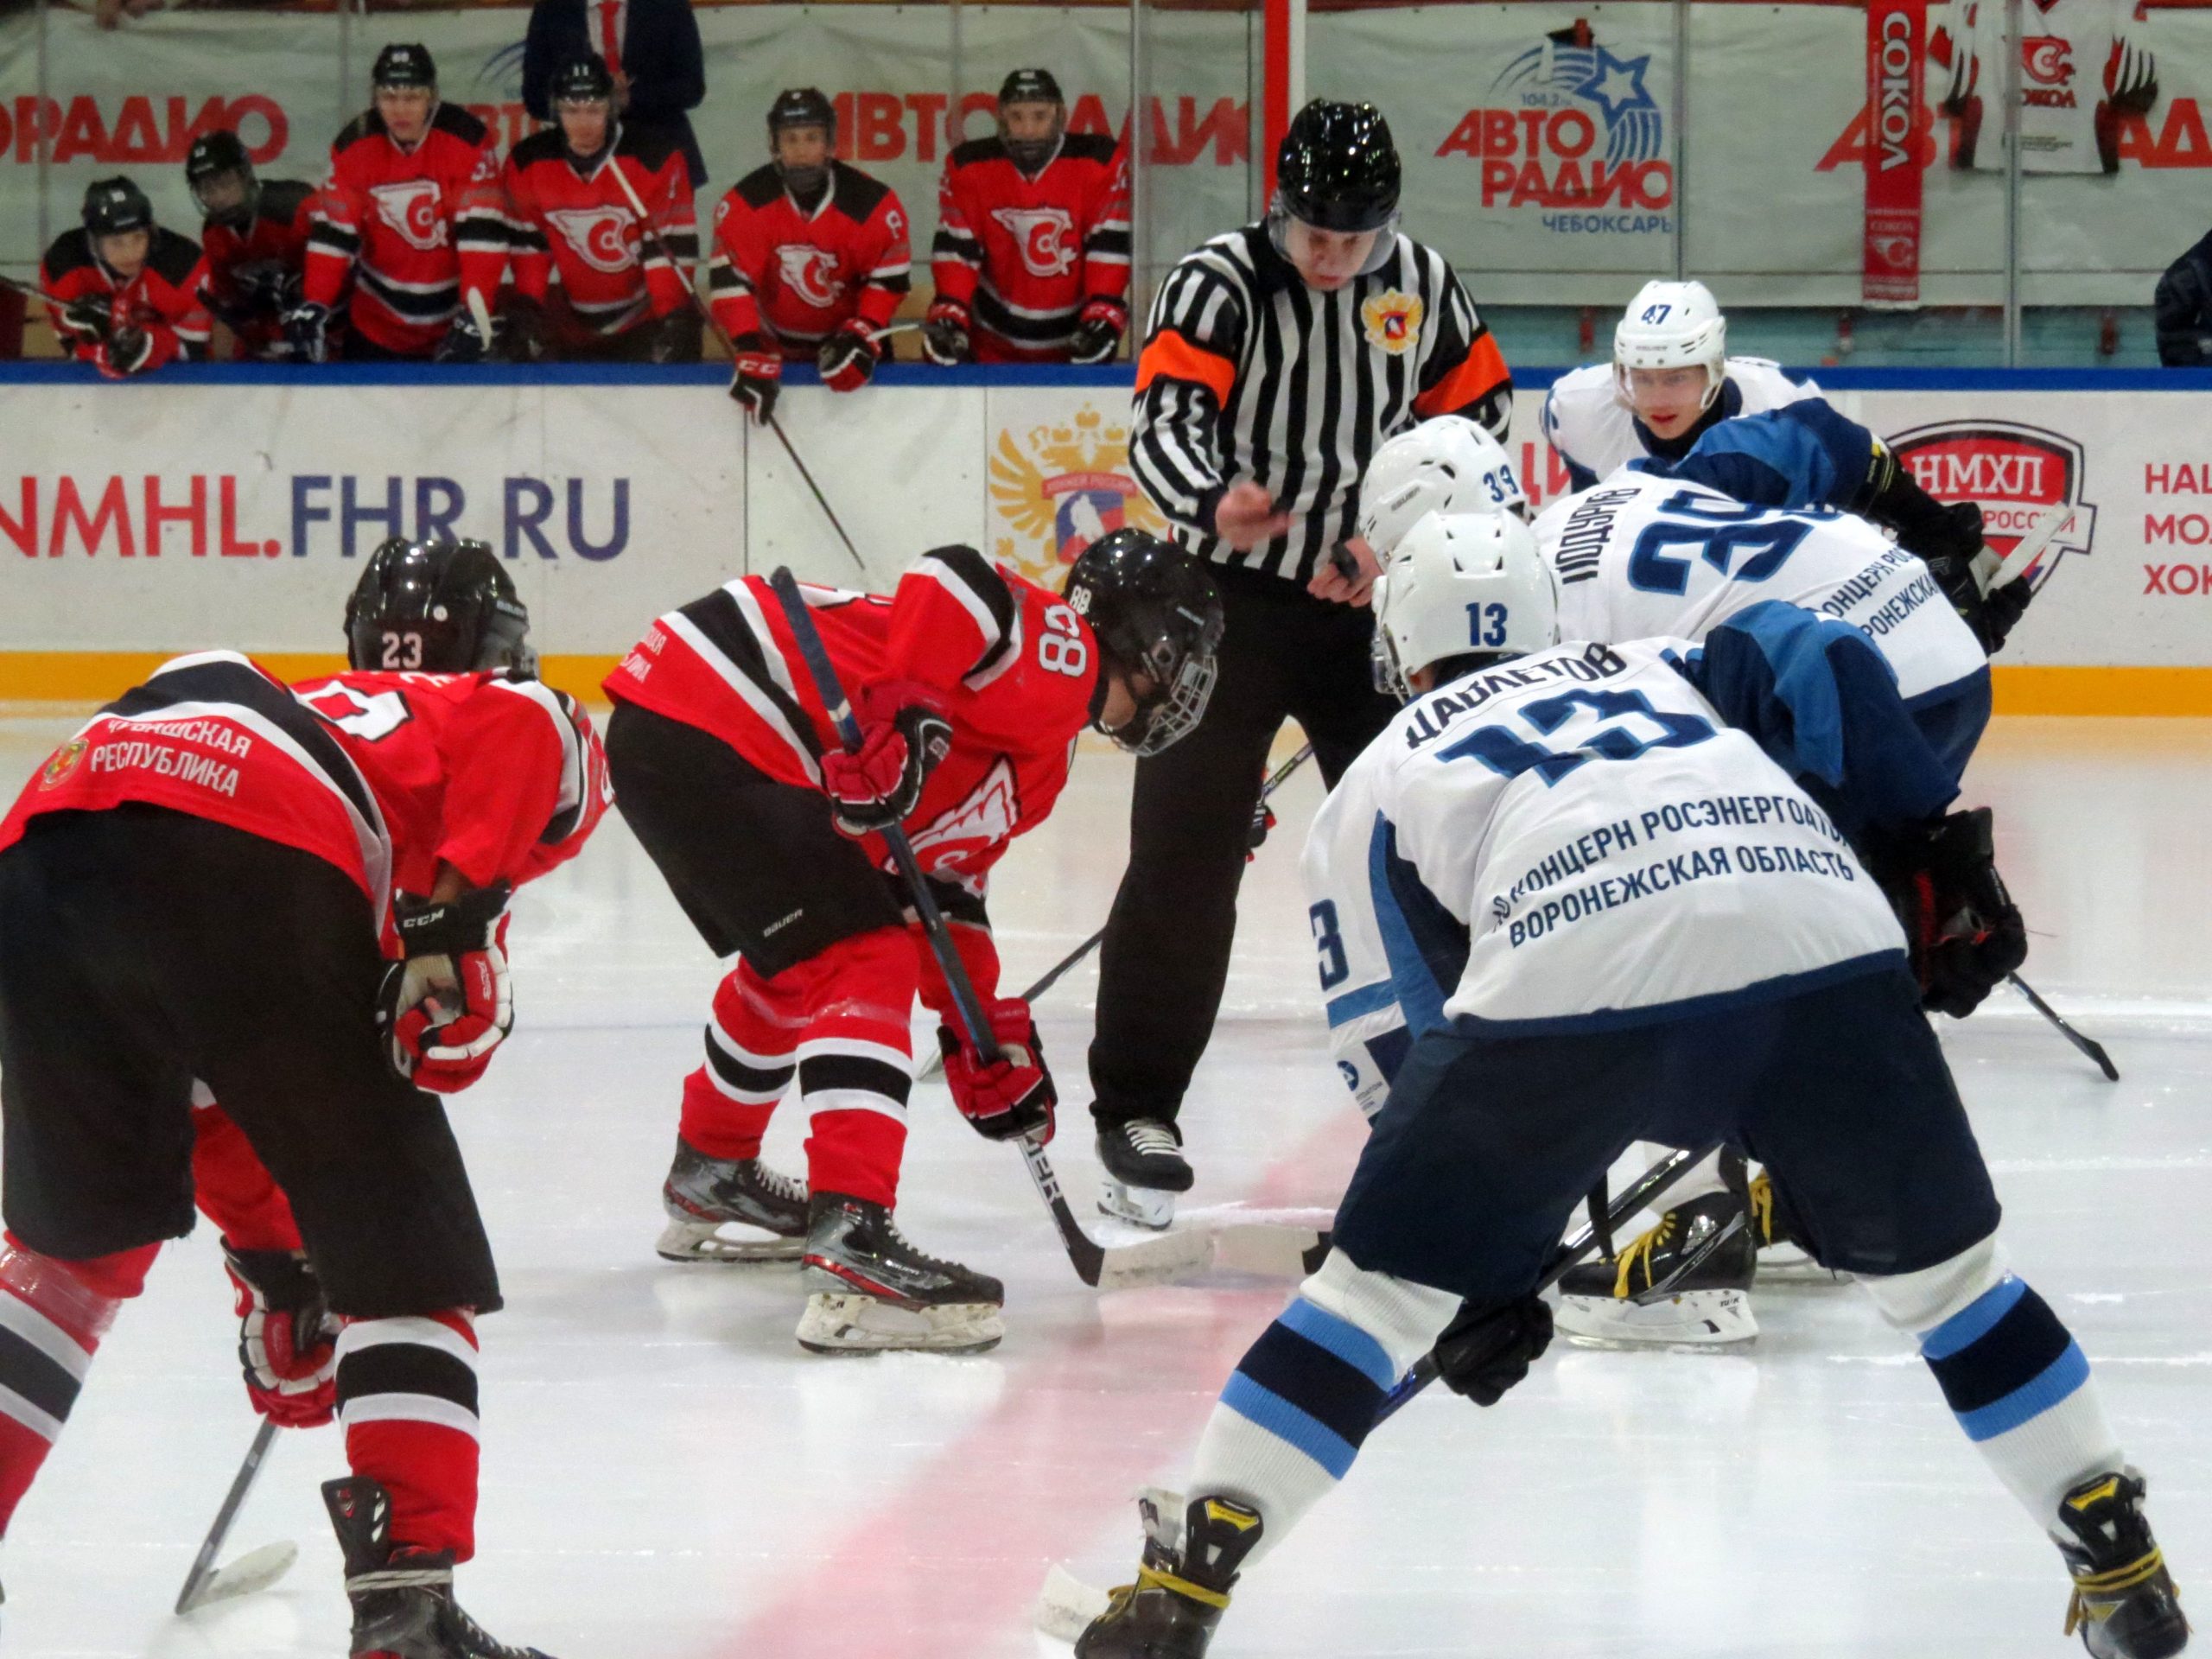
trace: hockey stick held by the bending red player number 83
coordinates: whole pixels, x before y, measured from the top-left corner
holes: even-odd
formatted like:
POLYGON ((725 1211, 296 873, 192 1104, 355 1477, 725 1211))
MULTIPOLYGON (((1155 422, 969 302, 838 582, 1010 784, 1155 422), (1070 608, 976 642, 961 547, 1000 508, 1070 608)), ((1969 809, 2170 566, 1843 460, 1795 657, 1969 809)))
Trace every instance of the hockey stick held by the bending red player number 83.
MULTIPOLYGON (((774 575, 768 577, 768 586, 774 588, 776 602, 783 606, 783 619, 792 626, 792 637, 799 641, 799 655, 805 657, 807 677, 814 681, 814 690, 823 699, 823 708, 830 710, 830 723, 836 726, 838 739, 847 750, 858 750, 860 721, 854 719, 852 703, 845 701, 845 688, 838 686, 836 666, 823 648, 823 637, 814 628, 814 617, 807 613, 807 602, 805 595, 799 593, 796 577, 787 566, 779 564, 774 575)), ((991 1035, 991 1022, 984 1018, 982 1000, 975 995, 975 984, 967 975, 967 962, 962 962, 960 951, 953 949, 953 938, 945 927, 942 911, 938 911, 938 900, 931 896, 929 883, 922 878, 922 865, 914 856, 914 843, 907 841, 907 832, 896 823, 885 825, 883 841, 891 849, 891 860, 898 865, 898 874, 905 878, 907 891, 914 896, 914 914, 922 920, 922 933, 929 936, 929 951, 938 958, 938 969, 945 973, 945 984, 953 998, 953 1011, 960 1015, 960 1024, 967 1029, 969 1042, 975 1044, 975 1053, 982 1055, 984 1064, 995 1064, 1000 1060, 998 1037, 991 1035)), ((1024 1135, 1020 1148, 1022 1166, 1029 1170, 1029 1179, 1037 1186, 1037 1197, 1044 1199, 1044 1208, 1053 1212, 1053 1225, 1060 1228, 1060 1241, 1068 1250, 1068 1261, 1075 1263, 1075 1276, 1086 1285, 1097 1285, 1099 1290, 1159 1285, 1206 1267, 1212 1261, 1214 1241, 1206 1234, 1166 1234, 1161 1239, 1144 1239, 1133 1245, 1099 1245, 1088 1232, 1084 1232, 1082 1223, 1075 1219, 1075 1210, 1068 1208, 1068 1199, 1060 1190, 1060 1177, 1053 1175, 1053 1164, 1046 1159, 1044 1146, 1033 1135, 1024 1135)))

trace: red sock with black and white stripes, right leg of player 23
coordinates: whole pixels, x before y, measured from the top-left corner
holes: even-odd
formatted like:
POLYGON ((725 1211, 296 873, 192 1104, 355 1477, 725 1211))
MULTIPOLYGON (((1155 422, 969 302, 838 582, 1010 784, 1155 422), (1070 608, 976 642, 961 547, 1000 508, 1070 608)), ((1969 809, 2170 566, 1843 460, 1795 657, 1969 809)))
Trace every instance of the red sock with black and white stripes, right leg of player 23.
POLYGON ((476 1555, 476 1321, 465 1307, 345 1321, 338 1422, 347 1464, 392 1495, 394 1548, 476 1555))

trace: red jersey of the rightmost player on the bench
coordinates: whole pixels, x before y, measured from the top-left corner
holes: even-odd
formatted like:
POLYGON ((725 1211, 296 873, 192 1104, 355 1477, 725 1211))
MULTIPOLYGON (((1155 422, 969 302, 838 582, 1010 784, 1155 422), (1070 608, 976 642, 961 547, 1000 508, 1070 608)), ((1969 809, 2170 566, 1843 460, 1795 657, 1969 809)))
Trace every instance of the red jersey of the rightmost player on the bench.
POLYGON ((1104 133, 1066 133, 1022 173, 998 137, 945 157, 929 272, 969 307, 978 363, 1066 363, 1091 301, 1128 325, 1128 159, 1104 133))

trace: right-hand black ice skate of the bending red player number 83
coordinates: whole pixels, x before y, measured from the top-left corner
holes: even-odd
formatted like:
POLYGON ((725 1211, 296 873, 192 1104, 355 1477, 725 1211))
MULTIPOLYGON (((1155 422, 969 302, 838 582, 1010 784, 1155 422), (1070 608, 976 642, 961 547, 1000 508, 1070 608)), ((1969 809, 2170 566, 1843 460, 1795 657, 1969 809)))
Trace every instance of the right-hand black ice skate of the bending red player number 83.
POLYGON ((816 1192, 803 1261, 814 1294, 799 1347, 810 1354, 984 1354, 1006 1334, 1006 1287, 925 1256, 880 1203, 816 1192))

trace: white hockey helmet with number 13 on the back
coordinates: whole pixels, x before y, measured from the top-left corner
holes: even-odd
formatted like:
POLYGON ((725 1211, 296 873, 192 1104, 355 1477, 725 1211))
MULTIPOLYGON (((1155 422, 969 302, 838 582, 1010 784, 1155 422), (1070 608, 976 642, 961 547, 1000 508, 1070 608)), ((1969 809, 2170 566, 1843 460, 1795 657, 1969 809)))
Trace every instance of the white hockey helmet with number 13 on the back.
POLYGON ((1559 644, 1559 582, 1513 513, 1429 513, 1374 591, 1400 695, 1447 657, 1522 657, 1559 644))

